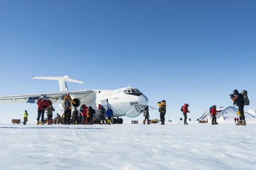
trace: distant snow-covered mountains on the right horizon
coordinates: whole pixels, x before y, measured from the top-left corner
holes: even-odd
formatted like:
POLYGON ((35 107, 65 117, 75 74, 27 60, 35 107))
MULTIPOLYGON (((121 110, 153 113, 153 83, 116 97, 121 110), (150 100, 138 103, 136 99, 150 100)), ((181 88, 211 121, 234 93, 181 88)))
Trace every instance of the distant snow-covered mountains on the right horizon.
MULTIPOLYGON (((222 110, 221 112, 218 112, 216 115, 217 122, 218 121, 226 121, 226 120, 234 120, 234 118, 239 117, 237 114, 237 107, 229 106, 229 107, 218 107, 218 110, 222 110)), ((244 111, 245 120, 246 118, 256 118, 256 109, 248 109, 244 111)), ((204 114, 198 118, 199 120, 210 120, 212 119, 211 113, 209 112, 209 109, 204 112, 204 114)), ((196 120, 195 120, 196 121, 196 120)))

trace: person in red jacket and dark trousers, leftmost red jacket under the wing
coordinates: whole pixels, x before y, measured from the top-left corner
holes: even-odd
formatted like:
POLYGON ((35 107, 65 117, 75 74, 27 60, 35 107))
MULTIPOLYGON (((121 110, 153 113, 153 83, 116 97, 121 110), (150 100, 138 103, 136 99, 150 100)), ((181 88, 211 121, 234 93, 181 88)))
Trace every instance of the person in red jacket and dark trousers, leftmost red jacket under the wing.
POLYGON ((39 98, 37 105, 38 105, 38 117, 36 119, 37 124, 39 124, 39 119, 41 116, 41 125, 43 125, 45 109, 50 106, 49 101, 46 100, 46 95, 43 95, 42 98, 39 98))

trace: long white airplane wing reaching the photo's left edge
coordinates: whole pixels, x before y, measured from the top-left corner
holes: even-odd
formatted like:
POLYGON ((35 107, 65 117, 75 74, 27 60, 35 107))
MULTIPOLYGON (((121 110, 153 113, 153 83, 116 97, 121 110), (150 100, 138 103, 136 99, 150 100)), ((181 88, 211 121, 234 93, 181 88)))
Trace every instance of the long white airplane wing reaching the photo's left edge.
POLYGON ((46 98, 51 100, 53 104, 63 103, 64 97, 70 94, 71 98, 86 97, 93 93, 93 90, 70 90, 60 92, 44 92, 44 93, 31 93, 24 95, 6 95, 0 96, 0 104, 2 103, 36 103, 42 95, 46 95, 46 98))

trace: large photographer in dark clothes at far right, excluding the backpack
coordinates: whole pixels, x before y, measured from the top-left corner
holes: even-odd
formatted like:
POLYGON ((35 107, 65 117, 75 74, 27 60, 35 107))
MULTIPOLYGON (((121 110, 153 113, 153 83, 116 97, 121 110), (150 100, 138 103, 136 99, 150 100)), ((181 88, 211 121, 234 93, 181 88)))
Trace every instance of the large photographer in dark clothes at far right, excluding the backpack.
POLYGON ((237 89, 233 91, 230 98, 235 102, 236 106, 238 106, 238 110, 240 112, 238 125, 246 125, 245 117, 244 117, 244 101, 242 95, 238 92, 237 89))

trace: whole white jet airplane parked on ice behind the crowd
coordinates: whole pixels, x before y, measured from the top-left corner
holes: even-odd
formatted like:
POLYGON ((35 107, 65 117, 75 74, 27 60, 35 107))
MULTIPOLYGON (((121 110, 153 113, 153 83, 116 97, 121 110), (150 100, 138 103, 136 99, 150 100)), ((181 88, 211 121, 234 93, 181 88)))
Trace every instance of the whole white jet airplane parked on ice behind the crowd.
MULTIPOLYGON (((47 79, 58 80, 60 91, 58 92, 43 92, 32 93, 23 95, 6 95, 0 96, 0 103, 32 103, 36 104, 41 96, 46 95, 49 104, 59 104, 59 108, 62 107, 64 97, 70 94, 70 97, 74 100, 73 107, 79 108, 81 104, 86 104, 87 107, 91 106, 98 111, 98 106, 101 104, 104 108, 111 107, 113 110, 112 124, 122 124, 122 116, 129 118, 135 118, 139 116, 145 109, 157 110, 154 107, 148 106, 148 98, 140 92, 139 89, 133 87, 124 87, 115 90, 109 89, 82 89, 82 90, 68 90, 67 81, 74 83, 84 84, 83 81, 79 81, 65 75, 63 77, 31 77, 34 79, 47 79)), ((98 114, 95 114, 96 117, 98 114)), ((97 121, 97 120, 96 120, 97 121)))

